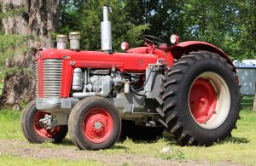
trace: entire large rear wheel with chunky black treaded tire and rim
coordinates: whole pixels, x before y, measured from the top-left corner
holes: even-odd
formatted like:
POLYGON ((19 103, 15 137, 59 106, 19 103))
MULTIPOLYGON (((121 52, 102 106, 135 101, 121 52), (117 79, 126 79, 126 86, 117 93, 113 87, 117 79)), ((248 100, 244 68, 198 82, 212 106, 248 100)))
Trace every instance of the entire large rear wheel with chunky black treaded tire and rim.
POLYGON ((240 92, 233 66, 218 54, 184 55, 163 77, 162 123, 182 145, 212 145, 231 135, 239 118, 240 92))

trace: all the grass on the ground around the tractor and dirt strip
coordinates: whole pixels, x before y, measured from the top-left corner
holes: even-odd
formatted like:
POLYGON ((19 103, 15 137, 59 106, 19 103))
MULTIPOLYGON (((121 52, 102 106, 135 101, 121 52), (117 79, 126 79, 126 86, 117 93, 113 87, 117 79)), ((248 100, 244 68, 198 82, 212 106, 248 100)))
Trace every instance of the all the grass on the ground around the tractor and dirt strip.
MULTIPOLYGON (((177 146, 174 141, 160 138, 155 142, 145 142, 125 140, 116 143, 113 148, 100 150, 99 153, 108 155, 136 154, 140 156, 163 158, 166 160, 178 160, 186 162, 209 161, 210 163, 232 162, 253 165, 256 163, 256 112, 251 112, 253 96, 246 96, 242 100, 245 107, 240 113, 241 120, 237 123, 237 129, 232 132, 232 137, 213 146, 177 146), (165 147, 170 147, 170 152, 161 153, 165 147)), ((20 132, 20 112, 11 110, 0 110, 0 141, 1 140, 25 140, 20 132)), ((35 145, 26 145, 35 146, 35 145)), ((52 149, 73 148, 71 140, 65 139, 60 145, 44 143, 37 147, 48 147, 52 149)), ((50 158, 33 159, 15 156, 2 156, 0 153, 0 163, 4 165, 16 165, 26 163, 26 165, 101 165, 98 161, 67 161, 65 159, 50 158)))

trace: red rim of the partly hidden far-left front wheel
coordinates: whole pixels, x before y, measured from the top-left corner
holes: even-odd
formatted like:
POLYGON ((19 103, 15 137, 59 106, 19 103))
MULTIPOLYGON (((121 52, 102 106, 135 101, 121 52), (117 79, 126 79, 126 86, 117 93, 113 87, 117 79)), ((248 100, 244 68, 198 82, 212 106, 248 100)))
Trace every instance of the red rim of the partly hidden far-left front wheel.
POLYGON ((56 126, 53 129, 44 129, 43 126, 39 124, 39 120, 45 115, 50 115, 48 112, 37 112, 33 119, 33 126, 38 135, 44 138, 53 138, 60 130, 61 126, 56 126))

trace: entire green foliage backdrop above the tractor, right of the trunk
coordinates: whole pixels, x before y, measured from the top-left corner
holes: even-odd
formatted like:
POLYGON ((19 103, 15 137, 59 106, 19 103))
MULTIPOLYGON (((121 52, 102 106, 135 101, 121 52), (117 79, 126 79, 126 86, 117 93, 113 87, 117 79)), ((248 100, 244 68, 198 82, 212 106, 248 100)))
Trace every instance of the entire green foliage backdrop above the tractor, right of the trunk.
POLYGON ((212 43, 232 59, 256 57, 256 2, 253 0, 63 0, 59 33, 82 33, 83 49, 100 49, 102 5, 113 8, 113 48, 122 41, 131 47, 143 34, 163 38, 172 33, 181 41, 212 43))

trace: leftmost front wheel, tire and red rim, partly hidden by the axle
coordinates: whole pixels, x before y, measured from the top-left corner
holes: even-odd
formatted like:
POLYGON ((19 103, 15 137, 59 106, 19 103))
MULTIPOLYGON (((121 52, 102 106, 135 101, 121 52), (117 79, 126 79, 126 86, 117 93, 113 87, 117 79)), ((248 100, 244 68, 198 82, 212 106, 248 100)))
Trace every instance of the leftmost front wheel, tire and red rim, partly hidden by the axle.
POLYGON ((44 129, 40 126, 39 120, 45 115, 50 115, 48 112, 37 110, 36 101, 32 100, 24 109, 21 116, 21 130, 26 140, 32 143, 43 143, 49 141, 59 143, 67 135, 67 125, 59 125, 54 129, 44 129))

